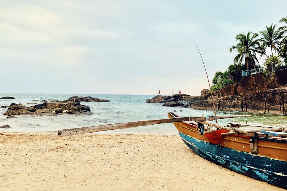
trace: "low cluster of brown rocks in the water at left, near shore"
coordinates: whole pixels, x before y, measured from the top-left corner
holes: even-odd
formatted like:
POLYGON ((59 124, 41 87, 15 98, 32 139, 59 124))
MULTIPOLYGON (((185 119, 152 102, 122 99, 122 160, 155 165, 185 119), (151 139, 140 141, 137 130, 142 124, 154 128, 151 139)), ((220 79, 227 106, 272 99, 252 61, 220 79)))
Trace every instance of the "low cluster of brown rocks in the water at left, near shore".
POLYGON ((44 102, 43 104, 26 107, 21 103, 11 103, 3 115, 58 115, 58 114, 92 114, 91 109, 86 105, 80 105, 79 102, 44 102), (65 111, 65 112, 63 112, 65 111))

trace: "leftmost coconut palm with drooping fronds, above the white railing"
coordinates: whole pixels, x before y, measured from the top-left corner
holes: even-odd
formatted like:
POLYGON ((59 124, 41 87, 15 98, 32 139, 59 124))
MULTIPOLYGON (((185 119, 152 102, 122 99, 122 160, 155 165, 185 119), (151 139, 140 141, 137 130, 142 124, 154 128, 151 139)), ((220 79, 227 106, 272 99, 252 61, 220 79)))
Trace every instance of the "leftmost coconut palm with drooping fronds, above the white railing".
POLYGON ((235 39, 239 41, 236 46, 232 46, 229 49, 229 52, 232 50, 237 50, 237 54, 233 62, 238 64, 238 68, 241 69, 241 65, 244 65, 245 70, 256 69, 256 66, 259 65, 259 62, 256 58, 256 53, 261 54, 260 43, 255 38, 258 37, 258 33, 248 32, 246 35, 238 34, 235 39), (250 65, 252 64, 252 66, 250 65))

